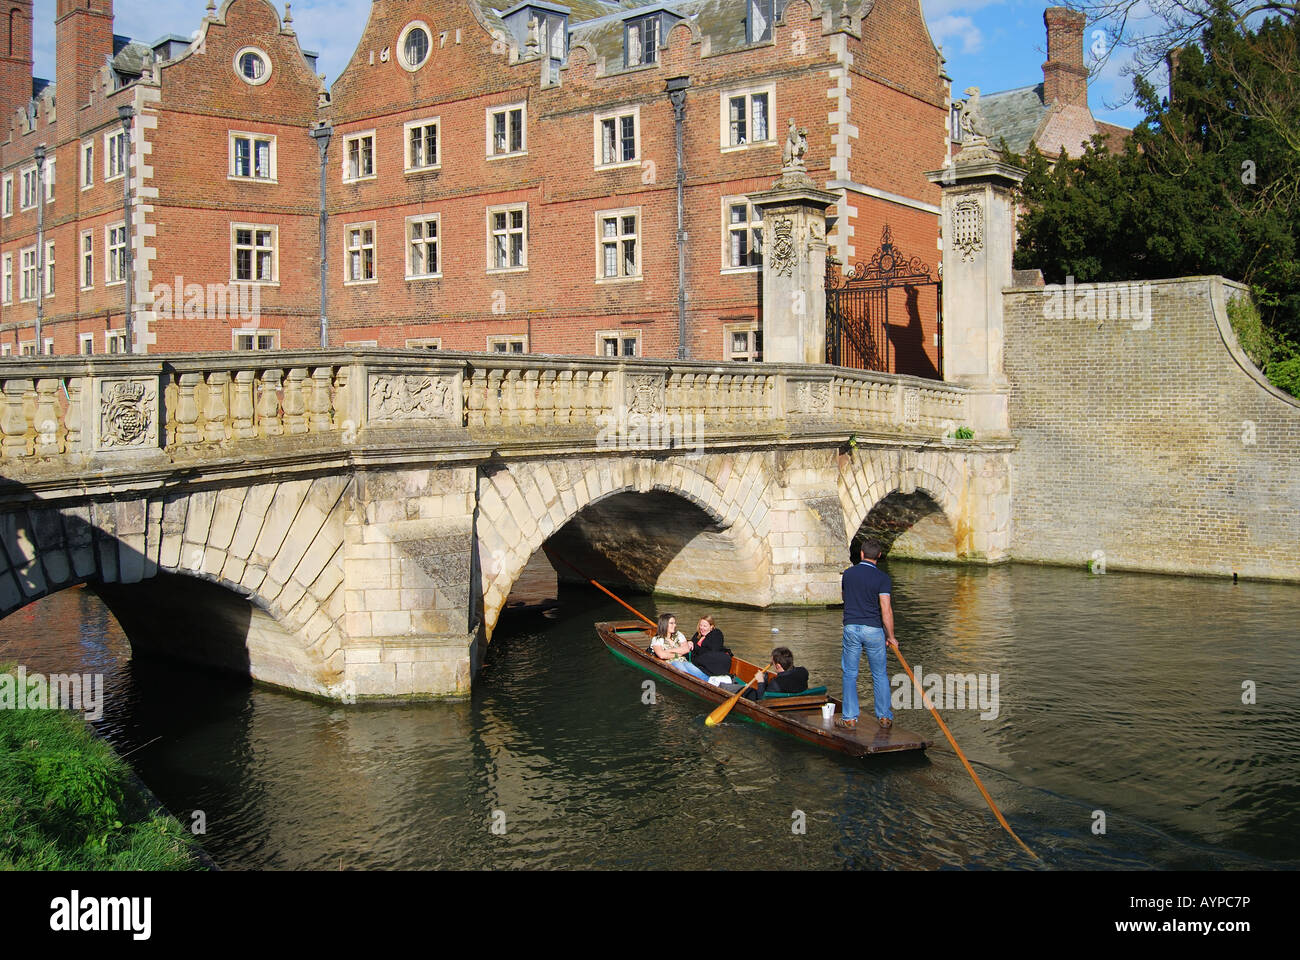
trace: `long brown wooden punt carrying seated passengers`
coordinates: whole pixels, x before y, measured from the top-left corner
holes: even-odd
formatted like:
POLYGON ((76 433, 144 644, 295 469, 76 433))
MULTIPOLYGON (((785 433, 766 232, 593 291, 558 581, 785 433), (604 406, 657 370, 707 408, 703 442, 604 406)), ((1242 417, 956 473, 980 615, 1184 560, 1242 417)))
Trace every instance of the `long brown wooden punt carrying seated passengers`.
MULTIPOLYGON (((653 631, 645 624, 634 620, 597 623, 595 632, 615 657, 667 680, 675 687, 680 687, 715 705, 732 696, 711 683, 705 683, 680 670, 673 670, 667 662, 646 653, 653 631)), ((740 678, 741 682, 753 679, 758 669, 757 663, 750 663, 740 657, 732 657, 732 675, 740 678)), ((848 753, 853 757, 866 757, 875 753, 897 753, 901 751, 923 751, 933 745, 933 740, 927 740, 919 734, 901 730, 897 723, 889 730, 881 730, 880 725, 870 715, 859 719, 855 730, 842 730, 835 726, 835 721, 822 715, 822 705, 827 702, 835 704, 835 713, 838 715, 840 701, 824 693, 764 699, 760 701, 741 697, 732 708, 731 717, 740 715, 760 726, 779 730, 783 734, 790 734, 807 743, 848 753)))

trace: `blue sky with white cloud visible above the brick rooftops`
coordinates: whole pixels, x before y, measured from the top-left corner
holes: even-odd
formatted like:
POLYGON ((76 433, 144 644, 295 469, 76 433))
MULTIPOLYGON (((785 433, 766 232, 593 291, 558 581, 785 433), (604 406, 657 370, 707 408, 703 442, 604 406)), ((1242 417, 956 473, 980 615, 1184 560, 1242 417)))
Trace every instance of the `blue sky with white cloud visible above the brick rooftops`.
MULTIPOLYGON (((502 0, 508 7, 514 0, 502 0)), ((146 43, 164 34, 188 36, 203 18, 207 0, 117 0, 116 33, 146 43)), ((935 43, 944 48, 957 96, 970 86, 984 92, 1043 79, 1046 33, 1043 0, 922 0, 935 43)), ((283 4, 277 7, 282 10, 283 4)), ((307 49, 321 55, 318 69, 333 83, 352 53, 365 22, 369 0, 296 0, 294 29, 307 49)), ((55 74, 55 0, 36 0, 36 75, 55 74)), ((1092 43, 1089 31, 1086 38, 1092 43)), ((1091 62, 1091 56, 1088 57, 1091 62)), ((1128 108, 1108 108, 1131 91, 1117 62, 1108 64, 1089 85, 1093 113, 1124 126, 1140 118, 1128 108)))

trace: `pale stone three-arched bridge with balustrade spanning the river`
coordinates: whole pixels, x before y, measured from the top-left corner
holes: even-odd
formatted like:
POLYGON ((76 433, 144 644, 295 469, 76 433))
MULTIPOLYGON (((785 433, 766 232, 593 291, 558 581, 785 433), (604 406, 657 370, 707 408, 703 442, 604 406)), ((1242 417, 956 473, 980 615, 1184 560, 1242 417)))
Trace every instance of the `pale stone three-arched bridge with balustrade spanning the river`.
POLYGON ((911 377, 329 350, 32 358, 0 388, 0 615, 86 584, 138 652, 324 697, 468 692, 542 546, 754 606, 837 602, 861 529, 1010 546, 1005 418, 911 377))

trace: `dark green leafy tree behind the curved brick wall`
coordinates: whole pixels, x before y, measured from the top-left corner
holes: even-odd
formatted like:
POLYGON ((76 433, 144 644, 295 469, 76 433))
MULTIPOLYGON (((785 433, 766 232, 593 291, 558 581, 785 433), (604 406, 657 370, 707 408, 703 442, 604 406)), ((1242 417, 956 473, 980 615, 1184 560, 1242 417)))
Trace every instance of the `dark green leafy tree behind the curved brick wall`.
POLYGON ((1265 325, 1300 342, 1300 22, 1243 26, 1218 4, 1180 51, 1171 100, 1135 78, 1145 118, 1122 148, 1098 139, 1020 163, 1015 265, 1050 282, 1221 273, 1249 284, 1265 325))

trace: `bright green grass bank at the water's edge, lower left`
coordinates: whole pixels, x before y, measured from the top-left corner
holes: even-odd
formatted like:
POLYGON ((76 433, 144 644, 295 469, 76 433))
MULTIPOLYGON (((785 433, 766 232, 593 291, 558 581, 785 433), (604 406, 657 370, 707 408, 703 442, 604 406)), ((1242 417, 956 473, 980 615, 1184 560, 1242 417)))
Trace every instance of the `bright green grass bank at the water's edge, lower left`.
POLYGON ((190 834, 79 714, 0 710, 0 870, 195 869, 190 834))

